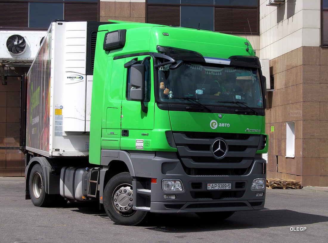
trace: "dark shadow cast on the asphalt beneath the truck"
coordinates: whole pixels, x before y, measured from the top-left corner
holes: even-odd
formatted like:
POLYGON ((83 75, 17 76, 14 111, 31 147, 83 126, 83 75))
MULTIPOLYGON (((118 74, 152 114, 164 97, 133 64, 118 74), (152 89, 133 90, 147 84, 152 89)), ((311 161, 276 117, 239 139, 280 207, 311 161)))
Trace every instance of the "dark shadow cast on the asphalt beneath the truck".
MULTIPOLYGON (((72 211, 100 216, 113 223, 103 209, 99 209, 99 203, 67 203, 65 208, 72 211)), ((297 227, 319 222, 328 222, 327 216, 300 213, 292 210, 260 210, 240 211, 230 218, 222 221, 202 219, 194 213, 182 214, 150 214, 149 219, 138 226, 148 230, 167 233, 205 232, 218 230, 254 229, 270 227, 297 227)))

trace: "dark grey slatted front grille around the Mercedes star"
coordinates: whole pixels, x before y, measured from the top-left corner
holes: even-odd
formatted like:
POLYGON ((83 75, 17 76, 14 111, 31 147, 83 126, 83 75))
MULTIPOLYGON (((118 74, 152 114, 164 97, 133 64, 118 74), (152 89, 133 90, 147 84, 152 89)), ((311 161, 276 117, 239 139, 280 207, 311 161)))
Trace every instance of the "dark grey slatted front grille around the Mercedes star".
POLYGON ((235 134, 213 132, 173 132, 174 142, 188 175, 243 175, 253 162, 258 148, 259 134, 235 134), (228 152, 222 159, 214 157, 211 147, 217 139, 223 139, 228 152), (228 165, 230 164, 230 165, 228 165), (196 172, 193 168, 214 169, 214 172, 196 172), (223 169, 221 171, 215 169, 223 169), (229 169, 227 169, 229 168, 229 169), (198 174, 197 174, 198 173, 198 174))

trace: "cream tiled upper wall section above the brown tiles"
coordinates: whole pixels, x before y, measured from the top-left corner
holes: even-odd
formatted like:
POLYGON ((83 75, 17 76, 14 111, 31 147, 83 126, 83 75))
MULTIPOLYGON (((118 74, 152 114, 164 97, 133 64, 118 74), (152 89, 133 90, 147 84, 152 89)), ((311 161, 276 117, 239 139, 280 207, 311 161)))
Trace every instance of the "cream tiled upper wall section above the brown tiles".
POLYGON ((319 47, 320 2, 288 0, 268 6, 260 0, 260 58, 273 60, 299 47, 319 47))

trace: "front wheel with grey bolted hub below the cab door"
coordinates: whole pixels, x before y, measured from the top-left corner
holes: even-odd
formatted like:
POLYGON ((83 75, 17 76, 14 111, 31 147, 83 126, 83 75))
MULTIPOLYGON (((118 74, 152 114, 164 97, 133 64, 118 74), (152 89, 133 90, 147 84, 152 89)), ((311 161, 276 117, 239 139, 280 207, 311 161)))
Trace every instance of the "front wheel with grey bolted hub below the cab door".
POLYGON ((145 220, 147 211, 133 210, 133 189, 130 173, 111 178, 104 190, 103 205, 107 215, 119 225, 137 225, 145 220))

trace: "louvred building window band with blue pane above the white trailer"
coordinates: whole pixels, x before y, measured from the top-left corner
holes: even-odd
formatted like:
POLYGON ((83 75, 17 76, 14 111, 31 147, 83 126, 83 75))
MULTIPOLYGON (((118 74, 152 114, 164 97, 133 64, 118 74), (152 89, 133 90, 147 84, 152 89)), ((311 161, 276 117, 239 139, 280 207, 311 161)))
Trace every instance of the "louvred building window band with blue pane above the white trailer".
POLYGON ((99 0, 0 0, 2 29, 48 29, 54 19, 99 21, 99 0))

